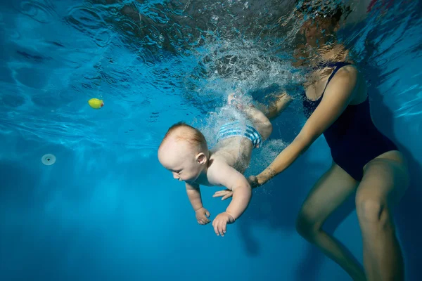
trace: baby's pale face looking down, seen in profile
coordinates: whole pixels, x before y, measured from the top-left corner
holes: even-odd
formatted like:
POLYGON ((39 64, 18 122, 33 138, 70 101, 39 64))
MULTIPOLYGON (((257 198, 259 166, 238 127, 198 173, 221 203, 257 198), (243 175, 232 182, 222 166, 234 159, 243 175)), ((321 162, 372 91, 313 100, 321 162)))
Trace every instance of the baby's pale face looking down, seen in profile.
POLYGON ((168 140, 158 151, 158 160, 178 181, 196 181, 205 168, 197 158, 198 153, 187 142, 168 140))

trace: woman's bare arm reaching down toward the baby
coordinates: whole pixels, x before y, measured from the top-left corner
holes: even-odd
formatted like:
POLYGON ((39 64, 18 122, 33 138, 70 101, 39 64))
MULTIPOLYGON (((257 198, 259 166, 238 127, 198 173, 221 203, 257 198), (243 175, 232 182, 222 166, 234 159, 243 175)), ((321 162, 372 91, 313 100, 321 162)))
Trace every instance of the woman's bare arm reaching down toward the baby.
POLYGON ((309 117, 305 126, 290 145, 285 148, 264 171, 256 176, 257 185, 262 185, 288 168, 319 138, 342 114, 354 96, 357 85, 357 70, 352 66, 342 67, 328 84, 321 103, 309 117))

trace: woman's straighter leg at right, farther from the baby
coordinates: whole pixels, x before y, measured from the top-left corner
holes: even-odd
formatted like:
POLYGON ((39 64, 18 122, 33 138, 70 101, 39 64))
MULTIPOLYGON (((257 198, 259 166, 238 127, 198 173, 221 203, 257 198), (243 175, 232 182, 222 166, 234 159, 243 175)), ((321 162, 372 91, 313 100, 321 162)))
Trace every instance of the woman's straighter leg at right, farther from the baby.
MULTIPOLYGON (((397 154, 399 152, 387 152, 397 154)), ((409 174, 404 161, 373 159, 366 164, 356 193, 356 211, 364 244, 368 280, 404 280, 402 251, 391 209, 404 195, 409 174)))

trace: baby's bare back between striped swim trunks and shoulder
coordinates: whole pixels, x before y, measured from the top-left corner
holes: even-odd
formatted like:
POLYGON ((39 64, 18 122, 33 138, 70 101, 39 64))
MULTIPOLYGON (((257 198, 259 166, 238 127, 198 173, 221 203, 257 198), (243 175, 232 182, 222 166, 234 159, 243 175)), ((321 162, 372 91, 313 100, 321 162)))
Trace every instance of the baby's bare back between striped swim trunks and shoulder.
POLYGON ((226 138, 219 141, 211 153, 211 159, 218 158, 243 174, 249 166, 252 143, 241 136, 226 138))

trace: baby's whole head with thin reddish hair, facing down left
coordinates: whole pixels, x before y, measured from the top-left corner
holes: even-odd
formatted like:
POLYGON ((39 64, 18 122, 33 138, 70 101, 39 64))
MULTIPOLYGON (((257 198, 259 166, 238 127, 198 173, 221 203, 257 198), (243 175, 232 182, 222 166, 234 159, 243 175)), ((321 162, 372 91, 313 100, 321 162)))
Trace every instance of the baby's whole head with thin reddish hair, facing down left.
POLYGON ((179 181, 193 182, 207 169, 207 141, 198 130, 179 122, 170 127, 158 148, 158 160, 179 181))

